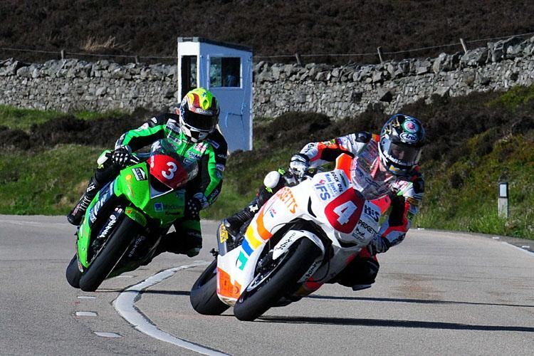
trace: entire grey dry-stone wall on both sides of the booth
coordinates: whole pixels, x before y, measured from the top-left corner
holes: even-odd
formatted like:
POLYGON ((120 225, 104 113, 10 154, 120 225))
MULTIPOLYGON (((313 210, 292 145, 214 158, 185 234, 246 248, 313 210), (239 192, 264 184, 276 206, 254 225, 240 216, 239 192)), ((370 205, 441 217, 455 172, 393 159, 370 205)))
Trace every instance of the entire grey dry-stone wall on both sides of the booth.
MULTIPOLYGON (((432 95, 466 95, 534 83, 534 37, 509 38, 467 53, 341 67, 257 63, 255 116, 323 112, 354 116, 369 105, 392 113, 432 95)), ((162 110, 179 102, 177 66, 69 59, 0 61, 0 104, 53 110, 162 110)))

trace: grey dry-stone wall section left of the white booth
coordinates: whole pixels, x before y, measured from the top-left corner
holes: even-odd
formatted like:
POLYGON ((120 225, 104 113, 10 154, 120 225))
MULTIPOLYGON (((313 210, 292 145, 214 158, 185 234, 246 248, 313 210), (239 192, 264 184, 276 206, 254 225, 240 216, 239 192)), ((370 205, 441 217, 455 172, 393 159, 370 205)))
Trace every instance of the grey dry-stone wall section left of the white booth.
POLYGON ((0 61, 0 104, 40 110, 161 110, 176 105, 177 66, 68 59, 0 61))

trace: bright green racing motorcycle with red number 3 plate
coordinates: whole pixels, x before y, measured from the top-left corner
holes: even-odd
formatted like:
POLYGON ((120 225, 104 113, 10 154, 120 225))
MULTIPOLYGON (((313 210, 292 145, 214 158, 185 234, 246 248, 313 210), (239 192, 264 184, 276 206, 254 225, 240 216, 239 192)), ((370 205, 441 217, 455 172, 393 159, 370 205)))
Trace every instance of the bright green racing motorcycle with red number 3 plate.
POLYGON ((85 211, 66 270, 70 286, 94 291, 106 278, 149 263, 162 236, 184 216, 185 187, 197 175, 196 159, 179 155, 163 139, 152 144, 150 155, 132 155, 130 164, 85 211))

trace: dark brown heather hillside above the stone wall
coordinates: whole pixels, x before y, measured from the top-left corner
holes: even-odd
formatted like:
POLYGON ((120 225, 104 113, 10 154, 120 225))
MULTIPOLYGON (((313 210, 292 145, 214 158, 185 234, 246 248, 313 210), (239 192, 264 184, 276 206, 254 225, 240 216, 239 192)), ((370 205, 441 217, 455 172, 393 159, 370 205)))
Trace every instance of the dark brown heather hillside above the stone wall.
MULTIPOLYGON (((459 43, 459 38, 530 33, 532 14, 534 2, 529 0, 2 0, 0 48, 112 53, 172 63, 172 58, 142 57, 174 56, 177 36, 200 36, 252 46, 257 62, 266 59, 260 56, 376 53, 378 46, 384 52, 407 51, 459 43)), ((402 52, 395 58, 460 50, 458 45, 402 52)), ((0 49, 0 58, 9 57, 45 61, 58 55, 0 49)), ((303 59, 337 64, 377 61, 376 56, 303 59)))

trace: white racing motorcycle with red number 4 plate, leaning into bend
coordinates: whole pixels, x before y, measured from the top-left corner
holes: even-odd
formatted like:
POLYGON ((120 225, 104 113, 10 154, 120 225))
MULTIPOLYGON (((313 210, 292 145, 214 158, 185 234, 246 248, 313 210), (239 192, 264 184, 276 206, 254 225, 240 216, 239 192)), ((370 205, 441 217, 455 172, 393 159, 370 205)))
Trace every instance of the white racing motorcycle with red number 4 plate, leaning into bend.
POLYGON ((352 157, 340 155, 330 172, 284 187, 232 241, 219 226, 219 251, 192 287, 194 310, 219 315, 233 306, 254 320, 332 281, 377 234, 379 204, 350 182, 352 157))

